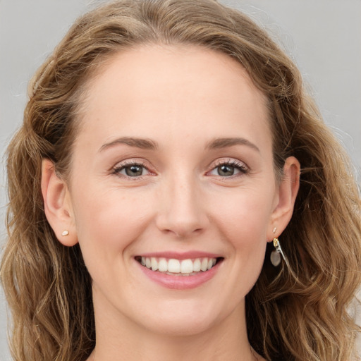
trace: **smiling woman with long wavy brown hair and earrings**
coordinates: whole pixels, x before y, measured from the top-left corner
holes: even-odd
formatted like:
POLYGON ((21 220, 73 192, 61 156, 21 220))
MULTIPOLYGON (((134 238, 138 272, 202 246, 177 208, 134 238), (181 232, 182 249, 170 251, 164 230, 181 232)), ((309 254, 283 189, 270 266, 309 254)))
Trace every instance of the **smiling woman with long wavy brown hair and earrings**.
POLYGON ((298 70, 214 1, 116 1, 8 148, 15 360, 351 360, 360 197, 298 70))

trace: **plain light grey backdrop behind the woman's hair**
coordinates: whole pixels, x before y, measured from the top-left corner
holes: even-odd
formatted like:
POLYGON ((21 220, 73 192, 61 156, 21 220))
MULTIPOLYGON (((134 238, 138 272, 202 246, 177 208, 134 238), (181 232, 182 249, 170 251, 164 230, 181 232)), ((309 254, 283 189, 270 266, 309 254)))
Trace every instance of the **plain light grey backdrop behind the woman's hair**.
MULTIPOLYGON (((90 0, 0 0, 0 154, 22 121, 27 82, 90 0)), ((361 173, 361 1, 221 0, 245 11, 278 39, 298 64, 361 173)), ((6 204, 0 165, 0 239, 6 204)), ((6 345, 6 306, 0 293, 0 361, 6 345)))

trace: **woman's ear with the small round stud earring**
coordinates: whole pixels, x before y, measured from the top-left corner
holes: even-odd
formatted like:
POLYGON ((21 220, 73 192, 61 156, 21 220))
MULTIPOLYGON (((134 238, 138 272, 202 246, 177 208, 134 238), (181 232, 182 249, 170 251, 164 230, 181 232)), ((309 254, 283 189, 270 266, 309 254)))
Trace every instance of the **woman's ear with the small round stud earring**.
POLYGON ((42 160, 42 197, 45 216, 59 242, 68 247, 78 243, 68 186, 49 159, 42 160))

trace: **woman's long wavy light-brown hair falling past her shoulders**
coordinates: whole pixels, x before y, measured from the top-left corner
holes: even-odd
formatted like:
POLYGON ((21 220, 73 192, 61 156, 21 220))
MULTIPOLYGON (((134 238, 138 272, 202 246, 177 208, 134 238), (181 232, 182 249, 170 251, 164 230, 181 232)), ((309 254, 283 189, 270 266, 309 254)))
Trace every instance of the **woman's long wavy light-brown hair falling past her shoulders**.
POLYGON ((246 299, 247 331, 269 360, 348 361, 357 326, 347 312, 361 282, 360 195, 348 157, 324 125, 288 56, 247 16, 212 0, 119 0, 87 13, 39 69, 23 126, 8 147, 8 243, 1 279, 16 361, 83 361, 95 343, 91 279, 78 245, 64 247, 44 215, 41 162, 66 177, 87 81, 137 44, 193 44, 237 60, 268 97, 274 166, 302 166, 281 236, 290 267, 269 252, 246 299))

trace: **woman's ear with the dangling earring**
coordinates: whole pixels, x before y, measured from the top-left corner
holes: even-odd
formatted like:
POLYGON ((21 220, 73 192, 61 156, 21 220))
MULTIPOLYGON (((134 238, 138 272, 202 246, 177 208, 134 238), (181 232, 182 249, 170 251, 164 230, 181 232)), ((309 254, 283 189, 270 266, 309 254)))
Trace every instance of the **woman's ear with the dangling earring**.
POLYGON ((279 194, 271 214, 271 222, 267 232, 267 240, 269 242, 279 237, 288 225, 293 214, 293 207, 295 206, 295 199, 299 188, 300 162, 295 157, 288 157, 283 166, 283 177, 279 184, 279 194), (276 231, 274 231, 275 228, 276 231))

